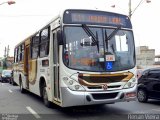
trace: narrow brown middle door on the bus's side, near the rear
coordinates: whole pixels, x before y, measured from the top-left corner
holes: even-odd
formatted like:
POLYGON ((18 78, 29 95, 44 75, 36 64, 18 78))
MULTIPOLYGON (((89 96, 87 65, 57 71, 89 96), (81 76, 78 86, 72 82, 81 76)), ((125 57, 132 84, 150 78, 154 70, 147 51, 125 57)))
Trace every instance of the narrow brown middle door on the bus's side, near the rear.
POLYGON ((26 89, 29 89, 29 45, 25 46, 25 53, 24 53, 24 67, 25 67, 25 76, 26 76, 26 89))

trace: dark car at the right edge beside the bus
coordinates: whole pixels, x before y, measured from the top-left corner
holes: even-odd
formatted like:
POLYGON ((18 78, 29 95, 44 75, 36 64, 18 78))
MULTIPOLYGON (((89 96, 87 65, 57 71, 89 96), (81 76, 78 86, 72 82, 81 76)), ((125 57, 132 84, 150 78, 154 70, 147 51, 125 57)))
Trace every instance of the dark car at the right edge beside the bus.
POLYGON ((160 100, 160 68, 143 71, 138 79, 137 98, 139 102, 147 102, 148 99, 160 100))

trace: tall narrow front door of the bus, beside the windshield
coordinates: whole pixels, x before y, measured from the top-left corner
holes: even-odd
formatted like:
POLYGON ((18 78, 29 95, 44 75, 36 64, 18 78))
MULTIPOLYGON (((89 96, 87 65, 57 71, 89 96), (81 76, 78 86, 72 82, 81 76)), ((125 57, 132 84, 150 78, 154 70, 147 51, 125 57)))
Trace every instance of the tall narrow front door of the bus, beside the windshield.
POLYGON ((54 81, 54 99, 60 100, 59 90, 59 46, 56 37, 56 30, 53 31, 53 81, 54 81))

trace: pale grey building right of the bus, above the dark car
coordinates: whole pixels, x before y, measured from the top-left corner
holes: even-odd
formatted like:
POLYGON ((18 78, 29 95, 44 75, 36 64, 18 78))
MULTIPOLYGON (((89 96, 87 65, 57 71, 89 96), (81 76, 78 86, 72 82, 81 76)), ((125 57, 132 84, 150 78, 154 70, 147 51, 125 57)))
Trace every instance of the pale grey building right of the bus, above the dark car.
POLYGON ((136 48, 136 59, 138 68, 148 68, 155 64, 155 49, 149 49, 148 46, 139 46, 136 48))

